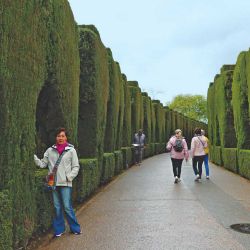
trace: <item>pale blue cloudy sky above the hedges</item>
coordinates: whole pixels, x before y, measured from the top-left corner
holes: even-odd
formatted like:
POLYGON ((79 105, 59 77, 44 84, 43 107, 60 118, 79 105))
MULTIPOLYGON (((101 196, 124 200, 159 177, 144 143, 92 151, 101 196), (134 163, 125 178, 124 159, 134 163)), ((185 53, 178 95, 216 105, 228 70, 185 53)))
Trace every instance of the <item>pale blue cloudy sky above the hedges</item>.
POLYGON ((206 97, 224 64, 250 47, 249 0, 69 0, 78 24, 93 24, 128 80, 164 105, 206 97))

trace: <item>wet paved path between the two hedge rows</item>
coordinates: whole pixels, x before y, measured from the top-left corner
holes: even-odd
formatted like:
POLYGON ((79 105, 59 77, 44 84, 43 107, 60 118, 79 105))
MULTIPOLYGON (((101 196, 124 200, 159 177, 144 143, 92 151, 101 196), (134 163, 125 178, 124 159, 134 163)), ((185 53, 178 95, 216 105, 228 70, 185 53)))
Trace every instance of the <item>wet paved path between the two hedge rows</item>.
POLYGON ((211 165, 211 179, 194 182, 191 161, 174 184, 169 154, 132 167, 81 208, 82 235, 66 233, 40 249, 250 249, 250 182, 211 165))

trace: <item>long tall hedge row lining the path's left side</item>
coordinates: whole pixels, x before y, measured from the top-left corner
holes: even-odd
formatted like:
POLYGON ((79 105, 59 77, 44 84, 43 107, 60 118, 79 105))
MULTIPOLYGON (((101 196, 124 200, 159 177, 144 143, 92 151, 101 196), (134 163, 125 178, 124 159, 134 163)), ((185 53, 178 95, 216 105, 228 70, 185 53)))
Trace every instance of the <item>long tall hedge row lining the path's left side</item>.
POLYGON ((127 81, 98 30, 76 25, 67 0, 3 0, 0 8, 0 139, 8 142, 0 145, 0 229, 8 234, 0 245, 18 249, 50 227, 47 171, 36 171, 33 154, 43 156, 56 127, 66 127, 77 148, 81 168, 73 200, 82 202, 133 164, 139 128, 150 157, 164 152, 176 128, 187 134, 197 122, 127 81))

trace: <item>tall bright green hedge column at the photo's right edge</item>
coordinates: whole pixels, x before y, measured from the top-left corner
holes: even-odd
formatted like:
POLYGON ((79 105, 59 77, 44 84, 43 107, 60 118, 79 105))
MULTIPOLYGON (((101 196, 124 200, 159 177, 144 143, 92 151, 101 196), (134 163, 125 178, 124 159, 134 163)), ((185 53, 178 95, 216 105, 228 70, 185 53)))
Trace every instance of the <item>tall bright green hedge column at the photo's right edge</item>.
POLYGON ((237 147, 250 149, 249 124, 249 83, 250 52, 241 52, 238 56, 232 84, 232 103, 237 147))

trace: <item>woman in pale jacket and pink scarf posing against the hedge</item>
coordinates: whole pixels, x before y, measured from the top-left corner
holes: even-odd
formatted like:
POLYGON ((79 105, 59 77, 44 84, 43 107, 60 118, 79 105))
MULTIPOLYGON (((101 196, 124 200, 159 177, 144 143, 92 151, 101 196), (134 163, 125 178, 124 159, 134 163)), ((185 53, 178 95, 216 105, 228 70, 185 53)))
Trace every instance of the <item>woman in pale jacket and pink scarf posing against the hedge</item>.
POLYGON ((55 174, 55 189, 52 190, 55 208, 55 218, 53 219, 54 236, 60 237, 65 232, 63 210, 70 231, 73 234, 81 234, 81 228, 77 222, 71 201, 72 181, 79 171, 77 153, 74 146, 67 142, 67 132, 64 128, 59 128, 55 136, 56 144, 46 150, 43 159, 40 160, 34 155, 34 161, 40 168, 48 167, 49 173, 52 173, 59 156, 63 154, 55 174))

